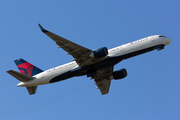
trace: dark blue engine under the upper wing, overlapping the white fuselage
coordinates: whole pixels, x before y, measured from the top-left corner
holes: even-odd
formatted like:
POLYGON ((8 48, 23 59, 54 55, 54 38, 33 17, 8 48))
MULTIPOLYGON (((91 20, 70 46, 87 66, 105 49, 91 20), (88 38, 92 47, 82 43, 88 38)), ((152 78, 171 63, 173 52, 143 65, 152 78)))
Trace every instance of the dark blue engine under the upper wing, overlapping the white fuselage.
POLYGON ((91 58, 102 58, 108 55, 108 49, 106 47, 102 47, 96 50, 93 50, 90 57, 91 58))

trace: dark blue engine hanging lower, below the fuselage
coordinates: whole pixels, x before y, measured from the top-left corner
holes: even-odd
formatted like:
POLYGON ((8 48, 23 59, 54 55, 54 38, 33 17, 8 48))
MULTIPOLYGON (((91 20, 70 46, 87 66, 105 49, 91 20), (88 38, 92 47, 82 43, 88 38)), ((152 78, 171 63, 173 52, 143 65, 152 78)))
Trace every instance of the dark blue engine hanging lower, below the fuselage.
POLYGON ((114 80, 118 80, 118 79, 125 78, 126 76, 127 76, 127 71, 125 68, 123 68, 123 69, 114 71, 110 78, 114 80))

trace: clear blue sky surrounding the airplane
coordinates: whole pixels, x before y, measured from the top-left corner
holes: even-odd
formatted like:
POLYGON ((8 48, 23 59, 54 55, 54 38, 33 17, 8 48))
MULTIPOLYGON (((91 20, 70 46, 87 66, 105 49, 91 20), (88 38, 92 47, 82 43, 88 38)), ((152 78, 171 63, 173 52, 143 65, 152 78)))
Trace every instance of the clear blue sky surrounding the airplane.
POLYGON ((1 0, 1 120, 179 120, 179 0, 1 0), (70 62, 38 23, 89 49, 113 48, 150 35, 172 43, 115 66, 128 76, 102 96, 86 76, 39 86, 30 96, 6 73, 24 58, 43 70, 70 62))

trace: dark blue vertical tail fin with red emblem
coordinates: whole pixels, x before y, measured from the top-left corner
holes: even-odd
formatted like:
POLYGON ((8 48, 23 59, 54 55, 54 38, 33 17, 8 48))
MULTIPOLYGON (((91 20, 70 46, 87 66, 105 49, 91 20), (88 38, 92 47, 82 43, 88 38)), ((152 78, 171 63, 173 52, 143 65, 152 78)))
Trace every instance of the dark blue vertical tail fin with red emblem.
POLYGON ((28 63, 27 61, 23 60, 22 58, 17 59, 14 61, 19 68, 19 71, 23 74, 34 76, 38 73, 43 72, 41 69, 37 68, 36 66, 28 63))

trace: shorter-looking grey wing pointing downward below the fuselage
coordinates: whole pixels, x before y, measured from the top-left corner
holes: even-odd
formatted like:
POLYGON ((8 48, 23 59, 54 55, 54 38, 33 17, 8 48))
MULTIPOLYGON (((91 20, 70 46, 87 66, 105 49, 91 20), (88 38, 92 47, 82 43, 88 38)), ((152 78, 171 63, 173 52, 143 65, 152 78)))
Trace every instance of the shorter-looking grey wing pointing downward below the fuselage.
POLYGON ((109 92, 111 78, 110 76, 113 73, 113 67, 102 69, 97 71, 95 77, 92 77, 95 80, 97 88, 100 89, 101 94, 107 94, 109 92))

